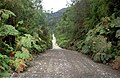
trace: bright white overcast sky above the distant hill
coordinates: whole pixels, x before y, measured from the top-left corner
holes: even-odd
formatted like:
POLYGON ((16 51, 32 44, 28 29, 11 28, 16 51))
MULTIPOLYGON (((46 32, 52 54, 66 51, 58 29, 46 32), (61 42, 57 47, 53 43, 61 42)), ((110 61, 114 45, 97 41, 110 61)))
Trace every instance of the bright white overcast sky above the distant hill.
POLYGON ((67 7, 66 4, 70 3, 70 0, 43 0, 42 5, 44 10, 51 10, 56 12, 62 8, 67 7))

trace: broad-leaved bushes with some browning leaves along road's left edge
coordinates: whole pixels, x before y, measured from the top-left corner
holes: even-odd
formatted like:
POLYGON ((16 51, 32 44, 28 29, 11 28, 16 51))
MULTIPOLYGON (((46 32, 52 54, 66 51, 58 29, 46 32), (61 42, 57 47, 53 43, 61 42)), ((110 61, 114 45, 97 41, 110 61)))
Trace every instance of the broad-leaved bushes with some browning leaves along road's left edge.
POLYGON ((0 10, 0 77, 10 76, 11 68, 18 73, 23 72, 26 63, 32 60, 30 52, 43 52, 51 46, 50 36, 44 29, 34 27, 42 32, 38 34, 37 30, 19 27, 23 21, 19 21, 15 26, 12 26, 15 23, 6 24, 13 21, 11 16, 16 15, 9 10, 0 10), (36 35, 31 35, 32 32, 36 35))

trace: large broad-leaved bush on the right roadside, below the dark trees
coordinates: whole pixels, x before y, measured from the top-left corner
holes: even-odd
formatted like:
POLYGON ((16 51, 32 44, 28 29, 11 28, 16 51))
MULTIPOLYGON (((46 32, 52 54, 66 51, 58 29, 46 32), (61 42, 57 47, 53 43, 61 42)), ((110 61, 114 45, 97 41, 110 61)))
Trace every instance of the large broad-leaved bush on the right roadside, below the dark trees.
POLYGON ((81 52, 91 55, 94 61, 102 63, 119 56, 119 22, 119 18, 102 18, 96 27, 88 31, 83 43, 79 43, 81 52))

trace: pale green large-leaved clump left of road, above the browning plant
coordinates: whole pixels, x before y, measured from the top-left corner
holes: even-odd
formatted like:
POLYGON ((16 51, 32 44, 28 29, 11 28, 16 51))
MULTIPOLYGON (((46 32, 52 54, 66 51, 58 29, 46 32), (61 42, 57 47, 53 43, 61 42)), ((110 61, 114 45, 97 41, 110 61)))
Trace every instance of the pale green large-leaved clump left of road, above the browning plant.
POLYGON ((30 34, 25 34, 25 36, 21 37, 20 40, 21 46, 29 50, 31 49, 37 53, 45 51, 49 47, 47 45, 51 45, 51 43, 46 43, 44 40, 42 40, 37 36, 38 34, 36 34, 36 38, 35 38, 35 36, 31 36, 30 34))

